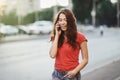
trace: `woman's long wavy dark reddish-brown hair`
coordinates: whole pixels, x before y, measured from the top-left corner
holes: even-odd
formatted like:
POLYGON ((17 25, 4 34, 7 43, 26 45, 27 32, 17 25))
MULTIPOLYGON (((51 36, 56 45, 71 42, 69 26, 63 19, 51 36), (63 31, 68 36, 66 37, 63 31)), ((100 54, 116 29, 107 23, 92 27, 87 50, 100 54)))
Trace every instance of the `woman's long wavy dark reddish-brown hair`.
POLYGON ((58 12, 55 20, 54 20, 54 28, 52 31, 52 35, 51 35, 51 41, 54 40, 55 37, 55 25, 57 24, 58 20, 59 20, 59 16, 60 14, 64 14, 67 18, 67 30, 64 33, 64 31, 61 32, 59 41, 58 41, 58 47, 61 47, 63 42, 64 42, 64 35, 66 35, 67 37, 67 42, 72 46, 72 48, 76 48, 77 46, 77 42, 76 42, 76 38, 77 38, 77 26, 76 26, 76 19, 73 15, 73 13, 68 10, 68 9, 62 9, 58 12))

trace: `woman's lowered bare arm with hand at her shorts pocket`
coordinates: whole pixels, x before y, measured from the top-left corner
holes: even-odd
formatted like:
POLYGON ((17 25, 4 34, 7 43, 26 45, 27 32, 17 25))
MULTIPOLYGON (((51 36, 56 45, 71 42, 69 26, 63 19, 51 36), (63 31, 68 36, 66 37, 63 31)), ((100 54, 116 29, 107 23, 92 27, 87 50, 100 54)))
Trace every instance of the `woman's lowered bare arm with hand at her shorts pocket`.
POLYGON ((65 77, 72 78, 74 77, 79 71, 81 71, 88 63, 88 48, 87 48, 87 41, 83 41, 80 44, 81 47, 81 54, 82 54, 82 62, 72 71, 69 71, 65 77))

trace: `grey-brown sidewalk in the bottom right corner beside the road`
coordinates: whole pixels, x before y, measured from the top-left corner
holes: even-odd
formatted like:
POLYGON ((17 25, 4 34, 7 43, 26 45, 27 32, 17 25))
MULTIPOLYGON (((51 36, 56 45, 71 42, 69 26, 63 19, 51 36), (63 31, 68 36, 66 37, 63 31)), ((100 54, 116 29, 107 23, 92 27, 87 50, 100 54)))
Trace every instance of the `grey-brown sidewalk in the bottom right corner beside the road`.
POLYGON ((81 80, 120 80, 120 60, 86 73, 81 80))

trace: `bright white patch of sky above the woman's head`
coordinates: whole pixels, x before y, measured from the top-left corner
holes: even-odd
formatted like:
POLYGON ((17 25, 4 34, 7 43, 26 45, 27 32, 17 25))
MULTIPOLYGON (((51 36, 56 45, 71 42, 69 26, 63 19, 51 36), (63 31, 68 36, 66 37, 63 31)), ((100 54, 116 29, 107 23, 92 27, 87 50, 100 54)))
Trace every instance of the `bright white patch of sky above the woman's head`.
POLYGON ((41 8, 48 8, 53 5, 68 6, 68 0, 40 0, 41 8))

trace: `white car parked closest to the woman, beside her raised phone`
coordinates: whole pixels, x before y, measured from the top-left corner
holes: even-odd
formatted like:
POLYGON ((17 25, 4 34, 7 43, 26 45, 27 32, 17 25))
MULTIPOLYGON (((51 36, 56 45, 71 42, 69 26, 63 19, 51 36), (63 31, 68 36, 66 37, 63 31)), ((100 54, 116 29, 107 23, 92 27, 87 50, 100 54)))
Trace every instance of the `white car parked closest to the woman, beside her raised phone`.
POLYGON ((52 26, 51 21, 36 21, 28 26, 29 34, 49 34, 52 26))

